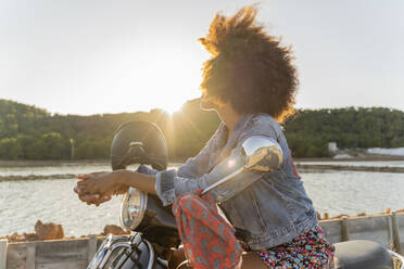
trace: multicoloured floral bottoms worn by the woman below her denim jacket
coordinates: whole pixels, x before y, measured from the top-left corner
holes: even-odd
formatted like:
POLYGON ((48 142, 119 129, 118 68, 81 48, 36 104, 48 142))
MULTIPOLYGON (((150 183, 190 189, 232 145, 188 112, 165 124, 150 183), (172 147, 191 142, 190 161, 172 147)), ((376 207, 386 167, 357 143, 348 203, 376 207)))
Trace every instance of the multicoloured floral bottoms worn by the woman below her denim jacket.
POLYGON ((332 268, 336 247, 316 225, 291 242, 256 253, 269 268, 332 268))

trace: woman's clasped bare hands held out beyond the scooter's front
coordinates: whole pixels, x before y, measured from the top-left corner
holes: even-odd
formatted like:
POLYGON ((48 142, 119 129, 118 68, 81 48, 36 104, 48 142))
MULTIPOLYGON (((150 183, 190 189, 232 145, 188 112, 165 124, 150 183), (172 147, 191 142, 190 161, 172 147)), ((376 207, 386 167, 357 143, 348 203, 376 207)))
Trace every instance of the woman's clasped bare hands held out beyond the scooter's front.
POLYGON ((127 187, 123 184, 123 174, 116 170, 78 175, 77 179, 80 181, 77 182, 74 191, 83 202, 99 206, 110 201, 113 194, 123 194, 127 191, 127 187))

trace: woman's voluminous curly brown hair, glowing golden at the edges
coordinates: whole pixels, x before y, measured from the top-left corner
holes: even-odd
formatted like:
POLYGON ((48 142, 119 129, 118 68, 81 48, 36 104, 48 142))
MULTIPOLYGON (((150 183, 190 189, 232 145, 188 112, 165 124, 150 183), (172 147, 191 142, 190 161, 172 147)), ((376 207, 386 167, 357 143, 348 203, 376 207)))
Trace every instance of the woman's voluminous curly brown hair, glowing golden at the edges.
POLYGON ((198 39, 212 54, 202 67, 201 89, 238 113, 267 113, 283 123, 294 113, 294 57, 255 22, 256 13, 253 5, 231 17, 217 13, 206 37, 198 39))

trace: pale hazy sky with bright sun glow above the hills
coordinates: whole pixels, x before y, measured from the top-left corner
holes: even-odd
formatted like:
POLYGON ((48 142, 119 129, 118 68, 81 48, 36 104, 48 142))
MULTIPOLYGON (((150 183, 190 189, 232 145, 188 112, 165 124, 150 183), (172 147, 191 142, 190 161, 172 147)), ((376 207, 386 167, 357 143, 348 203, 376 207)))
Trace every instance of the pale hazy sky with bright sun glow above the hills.
POLYGON ((404 111, 402 0, 0 0, 0 99, 60 114, 179 108, 200 97, 210 55, 197 39, 248 3, 295 51, 296 107, 404 111))

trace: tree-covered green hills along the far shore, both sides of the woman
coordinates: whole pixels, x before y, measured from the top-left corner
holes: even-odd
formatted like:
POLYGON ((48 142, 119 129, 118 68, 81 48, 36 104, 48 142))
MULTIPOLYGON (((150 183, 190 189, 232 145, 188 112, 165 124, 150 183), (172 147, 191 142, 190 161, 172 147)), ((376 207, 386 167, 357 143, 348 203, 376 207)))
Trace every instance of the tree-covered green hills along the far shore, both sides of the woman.
MULTIPOLYGON (((68 159, 71 139, 75 158, 108 158, 110 143, 119 124, 128 120, 155 123, 167 139, 171 158, 195 155, 216 130, 214 112, 199 108, 199 100, 187 102, 180 113, 91 116, 51 115, 45 110, 0 100, 0 159, 68 159)), ((404 146, 404 112, 382 107, 302 110, 285 124, 295 157, 327 156, 327 143, 340 149, 404 146)))

